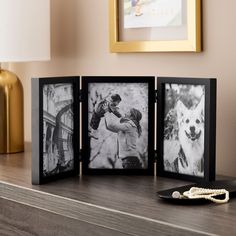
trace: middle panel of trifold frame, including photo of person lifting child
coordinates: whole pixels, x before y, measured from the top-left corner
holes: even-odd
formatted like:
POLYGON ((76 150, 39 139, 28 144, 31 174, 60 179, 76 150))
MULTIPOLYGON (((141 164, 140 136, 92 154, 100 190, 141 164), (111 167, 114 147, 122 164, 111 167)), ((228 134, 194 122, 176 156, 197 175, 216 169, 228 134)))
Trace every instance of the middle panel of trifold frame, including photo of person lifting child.
POLYGON ((82 77, 83 173, 153 174, 155 77, 82 77))

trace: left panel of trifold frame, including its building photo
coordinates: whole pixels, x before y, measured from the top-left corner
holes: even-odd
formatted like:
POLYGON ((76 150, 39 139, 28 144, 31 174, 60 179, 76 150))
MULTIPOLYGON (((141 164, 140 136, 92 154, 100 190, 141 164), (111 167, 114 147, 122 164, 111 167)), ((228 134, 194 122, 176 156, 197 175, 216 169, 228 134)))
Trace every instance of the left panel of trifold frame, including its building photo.
POLYGON ((32 183, 79 174, 79 77, 32 79, 32 183))

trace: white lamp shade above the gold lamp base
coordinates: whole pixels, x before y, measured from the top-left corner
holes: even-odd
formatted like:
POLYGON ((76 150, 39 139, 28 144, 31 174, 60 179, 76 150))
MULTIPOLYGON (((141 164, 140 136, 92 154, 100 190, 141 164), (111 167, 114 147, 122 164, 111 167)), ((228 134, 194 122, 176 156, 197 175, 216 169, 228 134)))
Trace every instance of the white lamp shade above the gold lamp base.
POLYGON ((50 59, 50 0, 0 0, 0 62, 50 59))

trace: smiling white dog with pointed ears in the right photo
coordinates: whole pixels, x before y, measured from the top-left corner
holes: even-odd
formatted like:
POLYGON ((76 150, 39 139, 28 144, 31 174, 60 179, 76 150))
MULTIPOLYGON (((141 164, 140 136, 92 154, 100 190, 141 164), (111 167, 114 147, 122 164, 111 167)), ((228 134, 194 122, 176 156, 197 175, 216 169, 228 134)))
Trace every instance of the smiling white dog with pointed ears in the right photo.
POLYGON ((178 171, 181 174, 203 176, 204 155, 204 99, 194 109, 180 100, 176 105, 180 152, 178 171))

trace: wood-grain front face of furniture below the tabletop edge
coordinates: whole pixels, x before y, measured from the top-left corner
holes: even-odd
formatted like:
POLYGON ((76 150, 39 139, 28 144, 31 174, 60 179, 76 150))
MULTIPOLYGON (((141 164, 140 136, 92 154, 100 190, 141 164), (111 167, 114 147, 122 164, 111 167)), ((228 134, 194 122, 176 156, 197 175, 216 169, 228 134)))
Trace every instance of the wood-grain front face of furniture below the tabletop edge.
POLYGON ((0 235, 125 236, 121 232, 81 222, 0 198, 0 235))

